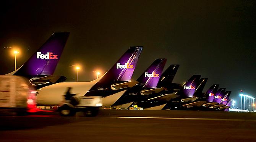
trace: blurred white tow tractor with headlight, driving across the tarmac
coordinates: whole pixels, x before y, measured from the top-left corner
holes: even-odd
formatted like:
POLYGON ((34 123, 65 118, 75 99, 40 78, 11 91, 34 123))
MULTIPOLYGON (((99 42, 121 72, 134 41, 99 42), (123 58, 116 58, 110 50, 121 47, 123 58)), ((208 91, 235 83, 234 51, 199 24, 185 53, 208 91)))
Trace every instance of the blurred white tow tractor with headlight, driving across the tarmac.
POLYGON ((102 106, 101 96, 73 96, 71 100, 65 100, 58 111, 61 116, 74 116, 76 112, 83 111, 85 116, 96 116, 102 106), (75 99, 75 102, 73 103, 75 99))

